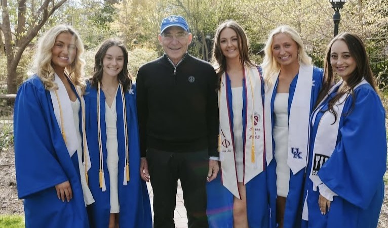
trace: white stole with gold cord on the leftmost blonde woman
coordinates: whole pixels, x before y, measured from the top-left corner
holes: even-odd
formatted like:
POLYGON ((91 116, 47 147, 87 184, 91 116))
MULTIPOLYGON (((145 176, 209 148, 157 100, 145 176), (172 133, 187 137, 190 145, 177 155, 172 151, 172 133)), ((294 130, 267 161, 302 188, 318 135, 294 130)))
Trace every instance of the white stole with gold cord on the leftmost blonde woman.
MULTIPOLYGON (((68 78, 68 76, 66 75, 68 78)), ((69 82, 74 86, 75 94, 77 99, 80 100, 81 103, 81 129, 82 129, 82 143, 83 143, 83 153, 79 154, 79 168, 80 168, 80 178, 81 178, 81 186, 84 194, 84 201, 86 205, 94 203, 93 196, 88 187, 89 178, 88 178, 88 170, 92 167, 89 157, 89 149, 86 141, 86 130, 85 130, 85 101, 81 96, 81 92, 74 85, 71 79, 69 82), (81 158, 81 159, 80 159, 81 158)), ((53 103, 55 118, 57 119, 57 123, 59 128, 61 129, 62 138, 65 141, 67 151, 70 157, 77 151, 79 141, 77 139, 77 131, 74 126, 73 113, 71 108, 70 99, 68 98, 68 94, 66 92, 65 85, 62 80, 59 78, 57 74, 55 74, 54 82, 57 83, 58 89, 51 89, 50 97, 53 103)))

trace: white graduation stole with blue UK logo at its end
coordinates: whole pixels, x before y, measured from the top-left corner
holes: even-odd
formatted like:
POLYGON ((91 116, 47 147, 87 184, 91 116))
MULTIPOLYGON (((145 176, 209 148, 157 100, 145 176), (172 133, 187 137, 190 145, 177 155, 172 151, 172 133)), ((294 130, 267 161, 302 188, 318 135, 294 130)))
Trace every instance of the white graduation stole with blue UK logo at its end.
MULTIPOLYGON (((295 93, 289 113, 287 164, 293 174, 306 166, 308 150, 308 122, 310 117, 313 66, 300 64, 295 93)), ((271 87, 265 95, 265 148, 269 165, 273 159, 271 98, 280 72, 271 76, 271 87)))

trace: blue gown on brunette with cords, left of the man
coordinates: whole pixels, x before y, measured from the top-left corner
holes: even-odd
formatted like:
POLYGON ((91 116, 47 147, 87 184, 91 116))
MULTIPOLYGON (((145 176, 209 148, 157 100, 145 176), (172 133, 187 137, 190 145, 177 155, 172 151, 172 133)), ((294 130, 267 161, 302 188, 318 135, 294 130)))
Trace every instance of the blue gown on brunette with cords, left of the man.
MULTIPOLYGON (((119 225, 120 227, 152 227, 151 207, 147 186, 140 178, 140 148, 139 130, 137 125, 135 85, 125 93, 128 127, 128 148, 130 181, 123 185, 123 172, 125 165, 125 137, 123 125, 123 104, 120 90, 116 97, 117 109, 117 139, 119 153, 118 193, 120 204, 119 225)), ((109 172, 106 158, 106 124, 105 124, 105 96, 101 90, 100 94, 100 118, 101 118, 101 139, 102 153, 105 172, 106 191, 99 188, 99 144, 97 125, 97 89, 88 84, 84 96, 86 103, 86 132, 92 168, 89 170, 89 187, 96 201, 88 205, 89 222, 92 227, 106 228, 109 224, 110 215, 110 188, 109 172)))

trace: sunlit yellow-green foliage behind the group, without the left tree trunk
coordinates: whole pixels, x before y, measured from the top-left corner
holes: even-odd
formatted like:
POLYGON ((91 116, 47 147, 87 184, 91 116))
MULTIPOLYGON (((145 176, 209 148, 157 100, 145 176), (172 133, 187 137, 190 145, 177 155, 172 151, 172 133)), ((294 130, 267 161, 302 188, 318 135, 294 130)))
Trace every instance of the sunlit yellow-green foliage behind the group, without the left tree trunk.
MULTIPOLYGON (((33 12, 39 7, 36 1, 26 2, 26 25, 15 37, 26 34, 33 23, 33 12)), ((18 1, 11 0, 8 4, 10 23, 17 28, 18 1)), ((179 14, 186 18, 193 34, 190 54, 209 60, 217 25, 233 19, 245 28, 252 58, 260 63, 261 57, 255 55, 264 47, 270 30, 288 24, 299 32, 314 62, 322 66, 322 53, 333 37, 333 13, 330 3, 322 0, 68 0, 54 12, 41 32, 58 23, 71 24, 80 32, 86 49, 92 52, 102 40, 117 36, 130 51, 142 50, 144 55, 151 51, 160 56, 163 54, 157 39, 160 22, 168 15, 179 14)), ((339 32, 359 34, 371 56, 388 55, 388 0, 348 0, 340 13, 339 32)), ((17 40, 13 39, 13 44, 17 40)), ((386 61, 373 59, 371 63, 380 81, 387 81, 386 61)), ((93 61, 88 62, 87 74, 92 69, 90 65, 93 66, 93 61)), ((130 68, 131 65, 139 64, 130 62, 130 68)), ((136 69, 131 70, 132 74, 136 69)), ((24 75, 23 71, 18 72, 24 75)))

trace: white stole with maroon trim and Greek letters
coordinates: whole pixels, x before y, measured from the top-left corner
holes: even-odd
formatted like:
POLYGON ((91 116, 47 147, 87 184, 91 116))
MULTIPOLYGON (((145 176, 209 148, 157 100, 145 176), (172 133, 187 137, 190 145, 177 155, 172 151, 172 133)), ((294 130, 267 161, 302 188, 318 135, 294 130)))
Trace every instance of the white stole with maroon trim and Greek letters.
MULTIPOLYGON (((261 79, 256 67, 244 67, 246 88, 246 135, 244 152, 244 184, 264 170, 264 124, 263 104, 261 98, 261 79)), ((222 74, 219 100, 219 156, 221 162, 222 184, 234 196, 240 199, 237 186, 237 171, 233 129, 227 99, 226 75, 222 74)))

